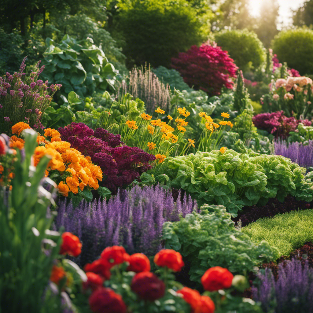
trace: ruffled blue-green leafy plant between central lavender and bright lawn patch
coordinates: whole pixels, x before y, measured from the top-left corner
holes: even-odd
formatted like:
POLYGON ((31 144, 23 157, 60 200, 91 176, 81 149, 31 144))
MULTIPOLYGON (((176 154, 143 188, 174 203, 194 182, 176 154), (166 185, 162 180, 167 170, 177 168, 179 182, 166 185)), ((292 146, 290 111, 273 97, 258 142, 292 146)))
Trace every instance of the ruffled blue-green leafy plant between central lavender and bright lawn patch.
POLYGON ((204 205, 201 214, 187 214, 178 222, 163 224, 165 248, 174 249, 191 262, 190 280, 200 281, 213 266, 232 273, 245 273, 253 266, 279 257, 265 241, 255 245, 248 235, 236 230, 222 205, 204 205))

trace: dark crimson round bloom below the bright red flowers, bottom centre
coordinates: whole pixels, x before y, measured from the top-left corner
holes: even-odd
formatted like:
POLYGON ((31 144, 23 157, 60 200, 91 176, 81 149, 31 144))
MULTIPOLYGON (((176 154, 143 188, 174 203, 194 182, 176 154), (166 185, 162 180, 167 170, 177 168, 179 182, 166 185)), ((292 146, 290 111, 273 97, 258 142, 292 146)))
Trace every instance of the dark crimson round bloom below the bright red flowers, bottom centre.
POLYGON ((151 272, 136 274, 131 281, 131 290, 141 299, 154 301, 162 298, 165 293, 165 284, 151 272))

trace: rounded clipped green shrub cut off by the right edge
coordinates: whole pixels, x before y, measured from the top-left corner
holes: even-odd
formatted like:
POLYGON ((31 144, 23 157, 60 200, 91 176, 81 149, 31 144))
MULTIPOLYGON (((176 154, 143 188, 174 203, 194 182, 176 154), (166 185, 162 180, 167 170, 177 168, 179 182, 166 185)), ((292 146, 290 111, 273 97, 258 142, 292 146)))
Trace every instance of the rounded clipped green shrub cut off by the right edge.
POLYGON ((273 41, 273 52, 281 63, 300 72, 313 74, 313 31, 308 28, 283 30, 273 41))

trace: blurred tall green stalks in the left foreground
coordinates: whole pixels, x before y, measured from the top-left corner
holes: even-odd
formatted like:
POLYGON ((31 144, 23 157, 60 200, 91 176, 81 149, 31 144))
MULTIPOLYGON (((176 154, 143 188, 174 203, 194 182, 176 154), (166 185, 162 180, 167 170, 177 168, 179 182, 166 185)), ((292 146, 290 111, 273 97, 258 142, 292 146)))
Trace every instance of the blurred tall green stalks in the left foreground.
POLYGON ((57 302, 43 298, 61 243, 59 233, 49 232, 52 195, 40 186, 50 159, 44 156, 31 166, 37 133, 24 134, 25 157, 17 150, 12 192, 0 190, 0 307, 3 312, 59 312, 57 302))

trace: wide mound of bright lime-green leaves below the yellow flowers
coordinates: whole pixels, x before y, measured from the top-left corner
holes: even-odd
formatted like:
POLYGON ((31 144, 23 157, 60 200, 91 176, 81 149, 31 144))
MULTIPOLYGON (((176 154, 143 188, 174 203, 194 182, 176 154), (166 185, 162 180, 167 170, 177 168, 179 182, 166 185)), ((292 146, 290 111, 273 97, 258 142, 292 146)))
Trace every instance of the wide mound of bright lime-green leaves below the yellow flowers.
POLYGON ((264 205, 275 197, 282 202, 288 194, 312 201, 313 184, 302 172, 304 168, 283 156, 230 149, 167 157, 154 176, 166 173, 169 186, 186 190, 198 205, 221 204, 235 217, 245 205, 264 205))

